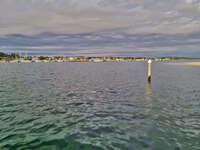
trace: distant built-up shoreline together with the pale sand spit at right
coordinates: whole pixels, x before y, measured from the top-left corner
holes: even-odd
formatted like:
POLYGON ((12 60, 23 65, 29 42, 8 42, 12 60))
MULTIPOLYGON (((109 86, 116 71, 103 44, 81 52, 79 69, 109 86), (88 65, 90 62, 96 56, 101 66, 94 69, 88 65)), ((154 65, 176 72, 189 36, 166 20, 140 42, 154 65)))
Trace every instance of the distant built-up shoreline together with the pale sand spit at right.
MULTIPOLYGON (((200 58, 180 57, 85 57, 85 56, 27 56, 27 57, 0 57, 1 63, 34 63, 34 62, 130 62, 148 61, 200 61, 200 58)), ((177 65, 200 65, 200 62, 173 63, 177 65)))

